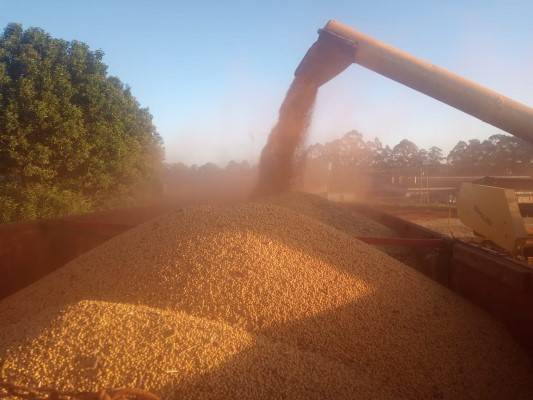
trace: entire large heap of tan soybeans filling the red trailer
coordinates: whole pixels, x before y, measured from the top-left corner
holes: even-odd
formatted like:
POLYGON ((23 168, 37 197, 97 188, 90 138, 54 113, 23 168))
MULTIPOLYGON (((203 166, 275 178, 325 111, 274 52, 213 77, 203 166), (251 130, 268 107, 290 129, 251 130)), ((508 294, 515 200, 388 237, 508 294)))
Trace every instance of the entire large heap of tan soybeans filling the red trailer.
POLYGON ((199 399, 533 396, 502 326, 292 196, 182 209, 3 300, 2 378, 199 399))

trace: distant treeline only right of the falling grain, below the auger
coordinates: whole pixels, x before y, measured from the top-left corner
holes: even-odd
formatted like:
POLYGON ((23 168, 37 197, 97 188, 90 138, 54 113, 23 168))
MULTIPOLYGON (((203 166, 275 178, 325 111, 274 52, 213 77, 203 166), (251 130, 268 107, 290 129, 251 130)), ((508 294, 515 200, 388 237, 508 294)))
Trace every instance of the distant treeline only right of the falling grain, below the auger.
POLYGON ((493 135, 483 141, 460 141, 445 155, 435 146, 423 149, 407 139, 384 146, 378 139, 367 141, 361 133, 350 131, 331 142, 309 146, 299 161, 376 172, 425 168, 467 175, 531 174, 533 145, 514 136, 493 135))

